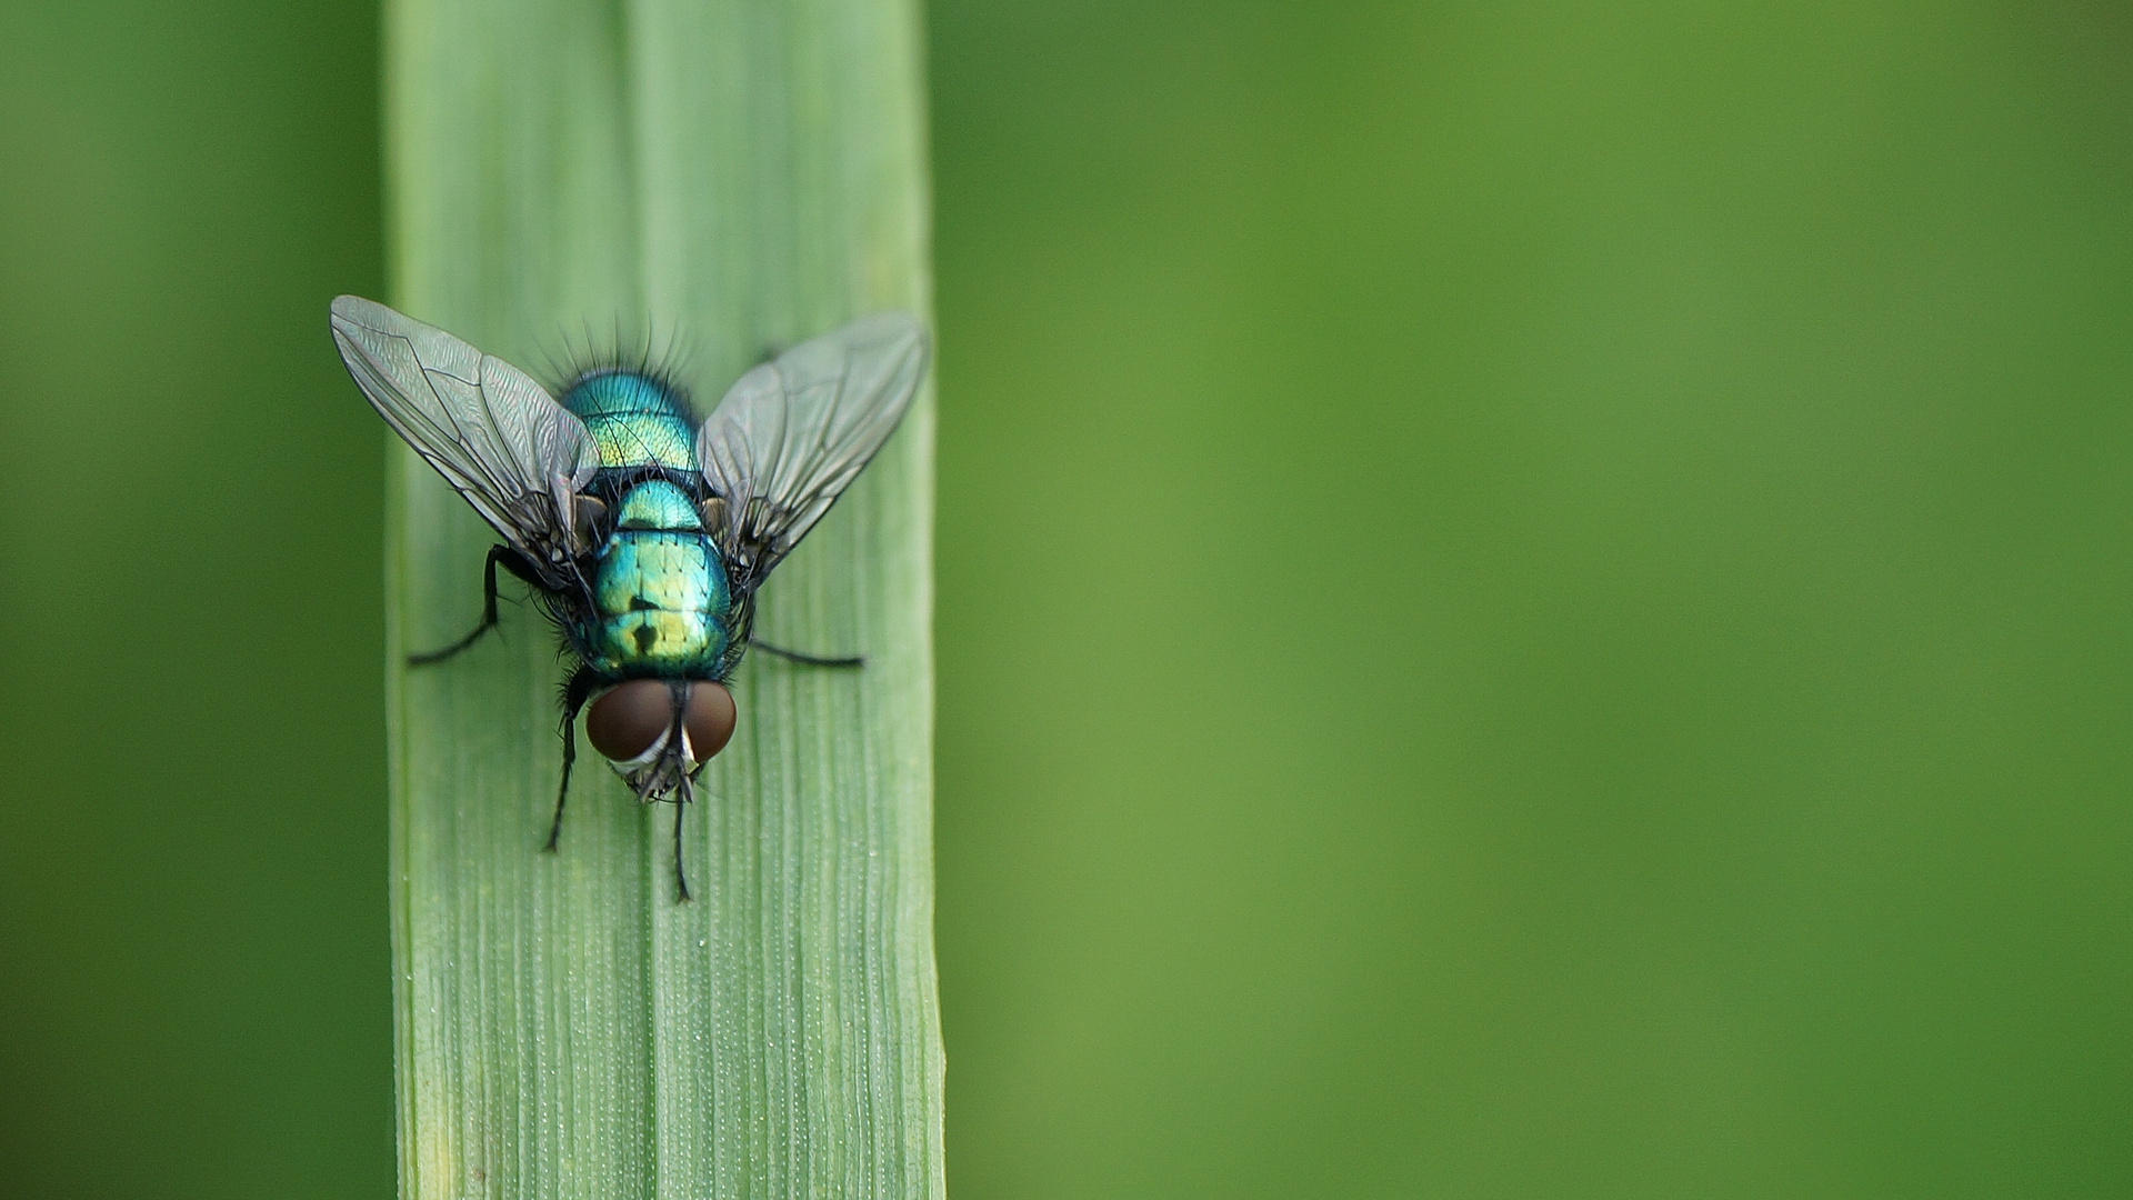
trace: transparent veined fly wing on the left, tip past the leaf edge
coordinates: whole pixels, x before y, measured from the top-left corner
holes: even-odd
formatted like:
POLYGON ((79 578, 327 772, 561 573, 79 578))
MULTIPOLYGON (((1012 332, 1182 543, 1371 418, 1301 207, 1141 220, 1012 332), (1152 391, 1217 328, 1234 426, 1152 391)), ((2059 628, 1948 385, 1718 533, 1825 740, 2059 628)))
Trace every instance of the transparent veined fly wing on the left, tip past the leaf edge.
POLYGON ((333 301, 348 374, 395 433, 542 572, 572 557, 593 436, 525 372, 360 297, 333 301))

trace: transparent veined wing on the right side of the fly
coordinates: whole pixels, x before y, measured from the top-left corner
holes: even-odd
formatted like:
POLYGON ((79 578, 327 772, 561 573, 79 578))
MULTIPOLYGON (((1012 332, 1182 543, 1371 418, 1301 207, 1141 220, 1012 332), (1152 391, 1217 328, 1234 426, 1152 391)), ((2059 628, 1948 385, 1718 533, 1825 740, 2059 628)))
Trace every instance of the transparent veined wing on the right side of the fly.
POLYGON ((926 331, 900 312, 793 346, 740 376, 697 431, 725 500, 719 549, 759 583, 887 442, 926 374, 926 331))

